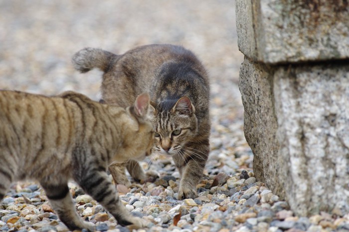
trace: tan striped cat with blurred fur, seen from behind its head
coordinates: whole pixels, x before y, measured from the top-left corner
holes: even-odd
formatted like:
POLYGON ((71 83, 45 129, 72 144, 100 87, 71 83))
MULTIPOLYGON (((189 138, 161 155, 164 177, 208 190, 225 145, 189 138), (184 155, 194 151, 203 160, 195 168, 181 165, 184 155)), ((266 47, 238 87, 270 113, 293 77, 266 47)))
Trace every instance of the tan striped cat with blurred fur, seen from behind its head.
POLYGON ((125 109, 71 91, 57 97, 0 91, 0 200, 11 182, 37 180, 70 230, 94 231, 74 209, 67 185, 73 179, 120 225, 144 227, 121 203, 106 171, 113 161, 150 154, 149 104, 148 94, 125 109))

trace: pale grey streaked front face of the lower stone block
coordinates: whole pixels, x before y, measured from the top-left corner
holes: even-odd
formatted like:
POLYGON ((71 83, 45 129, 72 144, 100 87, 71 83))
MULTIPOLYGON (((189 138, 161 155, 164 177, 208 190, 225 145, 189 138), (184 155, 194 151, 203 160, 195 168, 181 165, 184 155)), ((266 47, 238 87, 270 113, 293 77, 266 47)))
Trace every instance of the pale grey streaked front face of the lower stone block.
POLYGON ((291 208, 302 215, 335 206, 349 212, 349 66, 280 67, 274 94, 291 208))

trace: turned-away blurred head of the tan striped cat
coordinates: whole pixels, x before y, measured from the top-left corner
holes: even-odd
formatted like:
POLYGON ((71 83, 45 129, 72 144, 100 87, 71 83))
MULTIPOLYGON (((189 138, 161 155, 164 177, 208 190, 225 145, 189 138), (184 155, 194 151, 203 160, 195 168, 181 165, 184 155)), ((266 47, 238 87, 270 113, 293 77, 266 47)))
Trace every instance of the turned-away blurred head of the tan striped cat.
POLYGON ((149 109, 150 97, 144 93, 126 108, 126 115, 119 117, 123 139, 115 161, 143 160, 152 153, 155 133, 149 109))

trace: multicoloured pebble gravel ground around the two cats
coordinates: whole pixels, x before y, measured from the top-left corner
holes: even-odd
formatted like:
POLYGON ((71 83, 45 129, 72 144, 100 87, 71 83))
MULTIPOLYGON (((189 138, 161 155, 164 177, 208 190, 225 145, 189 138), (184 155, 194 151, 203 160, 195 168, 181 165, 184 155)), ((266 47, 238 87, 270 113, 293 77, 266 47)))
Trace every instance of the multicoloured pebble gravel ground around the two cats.
MULTIPOLYGON (((127 209, 149 221, 149 228, 138 232, 349 231, 349 214, 296 217, 253 177, 237 87, 243 56, 233 1, 1 0, 0 28, 0 89, 47 95, 74 90, 98 100, 101 73, 81 75, 70 63, 84 47, 120 54, 139 45, 173 43, 203 61, 211 77, 212 146, 199 197, 177 200, 179 174, 172 160, 146 160, 145 168, 162 174, 159 180, 140 188, 118 186, 127 209)), ((133 230, 118 226, 76 184, 70 183, 70 191, 81 217, 98 231, 133 230)), ((19 182, 0 202, 0 231, 68 230, 37 183, 19 182)))

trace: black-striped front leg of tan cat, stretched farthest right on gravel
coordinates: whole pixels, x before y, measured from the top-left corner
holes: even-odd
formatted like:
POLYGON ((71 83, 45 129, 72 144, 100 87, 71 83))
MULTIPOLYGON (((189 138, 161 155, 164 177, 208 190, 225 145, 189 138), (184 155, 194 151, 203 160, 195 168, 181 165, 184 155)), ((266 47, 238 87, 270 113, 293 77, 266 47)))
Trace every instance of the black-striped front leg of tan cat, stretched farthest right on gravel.
POLYGON ((128 226, 133 224, 140 228, 147 225, 145 220, 135 218, 125 208, 106 172, 92 169, 87 171, 80 180, 76 181, 87 194, 92 196, 114 216, 119 225, 128 226))

